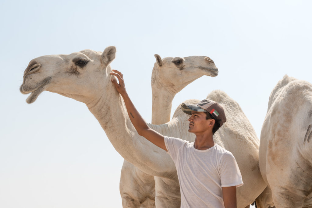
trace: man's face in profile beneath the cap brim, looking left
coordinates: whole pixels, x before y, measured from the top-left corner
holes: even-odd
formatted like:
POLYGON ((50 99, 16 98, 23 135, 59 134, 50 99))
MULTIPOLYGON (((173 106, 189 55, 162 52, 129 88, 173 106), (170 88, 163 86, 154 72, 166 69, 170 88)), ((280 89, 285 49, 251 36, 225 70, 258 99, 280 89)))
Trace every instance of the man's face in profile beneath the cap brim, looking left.
POLYGON ((188 121, 190 122, 188 125, 188 132, 204 133, 209 130, 209 127, 213 127, 214 123, 212 122, 212 120, 213 119, 206 119, 206 113, 204 112, 192 111, 192 115, 188 119, 188 121))

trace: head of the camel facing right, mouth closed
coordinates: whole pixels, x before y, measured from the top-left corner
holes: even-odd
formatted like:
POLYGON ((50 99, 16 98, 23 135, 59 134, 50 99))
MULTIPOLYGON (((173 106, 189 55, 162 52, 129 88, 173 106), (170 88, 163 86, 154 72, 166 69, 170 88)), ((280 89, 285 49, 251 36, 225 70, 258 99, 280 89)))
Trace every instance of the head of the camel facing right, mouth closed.
POLYGON ((152 85, 172 90, 174 94, 203 75, 215 77, 218 68, 207 56, 166 57, 155 54, 152 85))

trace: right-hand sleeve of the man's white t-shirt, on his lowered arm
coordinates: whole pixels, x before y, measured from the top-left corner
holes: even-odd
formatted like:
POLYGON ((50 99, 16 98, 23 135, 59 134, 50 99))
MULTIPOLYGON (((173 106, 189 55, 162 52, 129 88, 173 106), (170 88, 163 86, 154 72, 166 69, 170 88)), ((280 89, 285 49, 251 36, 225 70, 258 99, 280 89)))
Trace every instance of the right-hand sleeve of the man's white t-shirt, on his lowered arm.
POLYGON ((242 186, 241 172, 231 152, 226 152, 221 157, 220 164, 221 187, 242 186))

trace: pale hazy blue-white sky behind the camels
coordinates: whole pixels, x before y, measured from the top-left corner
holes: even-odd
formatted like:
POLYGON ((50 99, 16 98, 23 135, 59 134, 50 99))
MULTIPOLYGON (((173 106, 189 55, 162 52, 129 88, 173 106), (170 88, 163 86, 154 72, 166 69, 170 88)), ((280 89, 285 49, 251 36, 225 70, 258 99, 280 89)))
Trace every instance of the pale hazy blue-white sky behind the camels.
MULTIPOLYGON (((130 97, 151 121, 151 72, 161 57, 209 56, 173 100, 235 99, 260 138, 268 98, 285 74, 312 82, 311 1, 6 1, 0 3, 0 207, 121 207, 123 158, 85 104, 19 92, 33 58, 116 46, 130 97), (197 90, 200 88, 202 90, 197 90)), ((116 123, 118 125, 118 123, 116 123)), ((122 138, 120 138, 122 139, 122 138)), ((139 151, 139 150, 138 150, 139 151)))

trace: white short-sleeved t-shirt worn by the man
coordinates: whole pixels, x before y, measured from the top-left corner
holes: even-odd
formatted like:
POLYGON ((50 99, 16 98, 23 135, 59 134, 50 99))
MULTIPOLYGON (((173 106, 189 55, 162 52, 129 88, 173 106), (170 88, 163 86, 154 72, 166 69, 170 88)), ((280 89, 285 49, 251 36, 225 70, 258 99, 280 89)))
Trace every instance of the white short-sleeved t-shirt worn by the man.
POLYGON ((164 138, 167 153, 177 168, 181 208, 224 207, 222 187, 243 185, 234 156, 218 144, 198 150, 194 142, 164 138))

